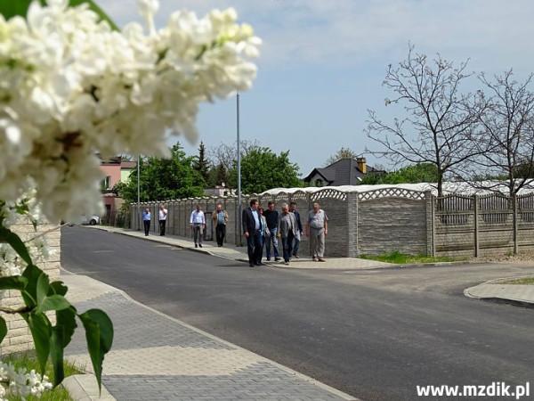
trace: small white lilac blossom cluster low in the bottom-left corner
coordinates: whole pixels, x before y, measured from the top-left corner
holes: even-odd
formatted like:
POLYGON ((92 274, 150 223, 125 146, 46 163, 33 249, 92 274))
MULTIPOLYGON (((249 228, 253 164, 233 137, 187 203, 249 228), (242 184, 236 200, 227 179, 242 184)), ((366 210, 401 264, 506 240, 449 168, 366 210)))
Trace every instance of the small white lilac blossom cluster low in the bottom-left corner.
POLYGON ((12 364, 0 362, 0 401, 8 396, 19 396, 25 399, 29 396, 40 397, 44 391, 53 388, 46 375, 41 376, 34 370, 27 372, 25 368, 15 369, 12 364))

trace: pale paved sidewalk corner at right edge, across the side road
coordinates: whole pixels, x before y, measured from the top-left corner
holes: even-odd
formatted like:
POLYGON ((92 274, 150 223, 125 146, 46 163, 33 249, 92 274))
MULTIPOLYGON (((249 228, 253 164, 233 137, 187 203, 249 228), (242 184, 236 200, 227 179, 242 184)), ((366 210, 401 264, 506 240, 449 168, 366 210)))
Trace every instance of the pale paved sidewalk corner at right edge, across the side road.
MULTIPOLYGON (((517 277, 510 277, 510 279, 517 277)), ((466 297, 474 299, 505 299, 534 305, 534 285, 503 284, 508 279, 491 280, 468 288, 466 297)))

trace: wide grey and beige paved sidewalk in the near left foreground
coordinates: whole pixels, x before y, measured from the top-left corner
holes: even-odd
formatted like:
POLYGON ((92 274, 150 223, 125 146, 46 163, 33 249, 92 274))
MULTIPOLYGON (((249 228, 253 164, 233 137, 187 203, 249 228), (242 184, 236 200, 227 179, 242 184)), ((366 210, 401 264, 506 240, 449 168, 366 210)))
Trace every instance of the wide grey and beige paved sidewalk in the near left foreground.
MULTIPOLYGON (((62 272, 81 312, 104 309, 115 326, 103 383, 117 400, 355 399, 269 359, 146 307, 90 277, 62 272)), ((83 330, 66 350, 86 369, 83 330)))

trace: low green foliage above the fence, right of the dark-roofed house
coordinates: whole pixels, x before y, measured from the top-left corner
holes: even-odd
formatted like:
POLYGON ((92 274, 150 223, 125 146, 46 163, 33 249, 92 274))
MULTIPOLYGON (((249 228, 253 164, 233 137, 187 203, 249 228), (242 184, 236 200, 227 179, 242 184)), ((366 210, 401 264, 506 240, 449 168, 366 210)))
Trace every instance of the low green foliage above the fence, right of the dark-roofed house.
POLYGON ((368 174, 361 184, 417 184, 435 183, 438 168, 432 163, 417 163, 385 174, 368 174))

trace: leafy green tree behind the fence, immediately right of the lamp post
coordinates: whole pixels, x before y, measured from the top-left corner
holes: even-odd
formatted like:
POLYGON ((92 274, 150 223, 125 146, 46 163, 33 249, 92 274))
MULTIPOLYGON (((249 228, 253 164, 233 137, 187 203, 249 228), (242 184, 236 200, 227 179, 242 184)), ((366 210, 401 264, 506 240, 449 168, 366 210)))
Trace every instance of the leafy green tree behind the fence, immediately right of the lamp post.
MULTIPOLYGON (((231 186, 237 186, 237 168, 231 170, 231 186)), ((270 148, 255 147, 241 160, 241 187, 243 193, 259 193, 277 187, 300 187, 298 166, 289 160, 289 151, 277 155, 270 148)))

